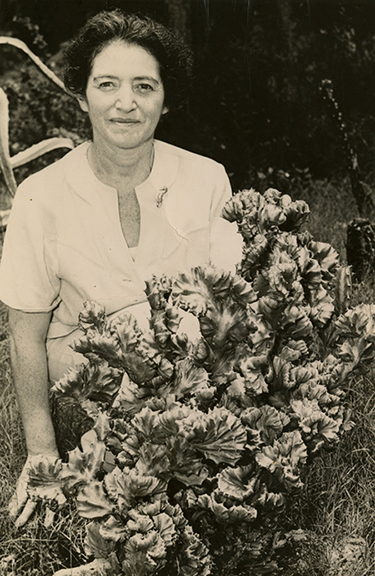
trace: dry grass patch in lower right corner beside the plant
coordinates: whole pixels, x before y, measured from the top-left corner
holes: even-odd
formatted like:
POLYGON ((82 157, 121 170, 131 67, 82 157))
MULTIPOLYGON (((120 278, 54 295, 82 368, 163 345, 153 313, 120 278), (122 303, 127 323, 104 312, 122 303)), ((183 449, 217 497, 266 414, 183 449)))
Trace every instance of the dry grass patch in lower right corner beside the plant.
MULTIPOLYGON (((316 458, 289 522, 314 533, 325 551, 324 576, 375 574, 375 387, 373 377, 348 391, 353 429, 331 453, 316 458)), ((306 573, 307 574, 307 573, 306 573)))

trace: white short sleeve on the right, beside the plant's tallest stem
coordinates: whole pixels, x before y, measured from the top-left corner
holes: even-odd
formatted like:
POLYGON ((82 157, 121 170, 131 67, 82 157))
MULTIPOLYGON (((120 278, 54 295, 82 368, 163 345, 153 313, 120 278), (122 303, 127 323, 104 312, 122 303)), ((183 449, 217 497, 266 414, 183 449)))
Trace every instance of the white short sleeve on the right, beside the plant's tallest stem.
POLYGON ((218 268, 234 273, 242 259, 242 238, 237 224, 221 216, 225 203, 232 197, 232 189, 224 167, 218 175, 211 203, 210 261, 218 268))

